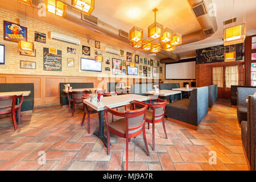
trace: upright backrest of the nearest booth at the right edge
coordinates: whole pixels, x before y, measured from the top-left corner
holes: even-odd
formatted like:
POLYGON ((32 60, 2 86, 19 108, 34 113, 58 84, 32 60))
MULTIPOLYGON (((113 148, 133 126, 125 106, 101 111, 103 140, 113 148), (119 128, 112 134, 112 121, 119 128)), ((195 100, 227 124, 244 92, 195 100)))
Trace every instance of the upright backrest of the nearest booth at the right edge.
POLYGON ((246 137, 246 152, 249 160, 251 171, 255 171, 256 162, 256 96, 248 96, 247 103, 247 137, 246 137))

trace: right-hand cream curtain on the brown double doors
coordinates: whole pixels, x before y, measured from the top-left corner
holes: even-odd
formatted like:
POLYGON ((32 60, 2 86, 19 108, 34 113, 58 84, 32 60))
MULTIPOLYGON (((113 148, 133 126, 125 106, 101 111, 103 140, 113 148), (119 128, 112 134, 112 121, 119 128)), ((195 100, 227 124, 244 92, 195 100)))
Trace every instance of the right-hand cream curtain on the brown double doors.
POLYGON ((238 83, 238 65, 228 66, 225 69, 226 88, 231 88, 231 85, 239 85, 238 83))

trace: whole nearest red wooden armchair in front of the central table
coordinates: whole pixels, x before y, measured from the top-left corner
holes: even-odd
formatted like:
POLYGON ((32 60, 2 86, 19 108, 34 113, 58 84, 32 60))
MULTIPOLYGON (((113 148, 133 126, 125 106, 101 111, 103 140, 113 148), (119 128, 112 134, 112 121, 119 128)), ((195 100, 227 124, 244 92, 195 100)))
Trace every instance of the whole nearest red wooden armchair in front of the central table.
POLYGON ((125 112, 117 111, 107 107, 104 112, 104 117, 107 127, 107 145, 108 145, 108 155, 110 154, 110 132, 117 135, 118 137, 126 138, 126 170, 128 170, 128 146, 129 139, 137 137, 143 131, 143 139, 147 150, 147 155, 149 156, 146 133, 145 133, 145 119, 147 105, 131 101, 131 109, 135 108, 135 105, 141 106, 142 109, 137 110, 126 110, 125 112), (115 122, 109 123, 108 113, 117 115, 118 117, 123 117, 115 122))

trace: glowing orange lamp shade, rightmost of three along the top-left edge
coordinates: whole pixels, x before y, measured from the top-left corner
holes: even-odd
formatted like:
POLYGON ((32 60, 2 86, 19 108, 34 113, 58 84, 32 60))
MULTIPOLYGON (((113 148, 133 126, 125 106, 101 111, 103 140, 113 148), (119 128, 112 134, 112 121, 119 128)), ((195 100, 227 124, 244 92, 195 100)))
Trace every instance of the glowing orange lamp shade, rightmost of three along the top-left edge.
POLYGON ((72 0, 72 5, 77 9, 81 10, 83 13, 90 15, 94 10, 95 1, 94 0, 72 0))

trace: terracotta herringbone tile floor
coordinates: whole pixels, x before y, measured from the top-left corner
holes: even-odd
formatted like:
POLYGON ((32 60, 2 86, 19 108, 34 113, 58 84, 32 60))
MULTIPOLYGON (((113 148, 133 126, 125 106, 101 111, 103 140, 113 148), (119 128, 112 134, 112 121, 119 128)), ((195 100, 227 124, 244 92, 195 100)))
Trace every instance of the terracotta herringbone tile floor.
MULTIPOLYGON (((125 139, 111 137, 108 156, 100 139, 80 126, 82 107, 74 117, 67 107, 36 108, 23 115, 14 131, 10 118, 0 119, 0 170, 123 170, 125 139), (46 152, 46 164, 38 163, 39 152, 46 152)), ((91 131, 98 126, 98 115, 91 119, 91 131)), ((166 120, 168 139, 162 123, 156 125, 155 151, 151 129, 146 129, 150 156, 142 135, 129 143, 130 170, 248 170, 241 142, 236 108, 218 101, 200 129, 195 131, 166 120), (216 164, 209 164, 209 151, 215 151, 216 164)))

